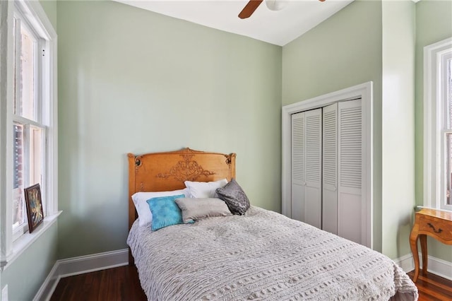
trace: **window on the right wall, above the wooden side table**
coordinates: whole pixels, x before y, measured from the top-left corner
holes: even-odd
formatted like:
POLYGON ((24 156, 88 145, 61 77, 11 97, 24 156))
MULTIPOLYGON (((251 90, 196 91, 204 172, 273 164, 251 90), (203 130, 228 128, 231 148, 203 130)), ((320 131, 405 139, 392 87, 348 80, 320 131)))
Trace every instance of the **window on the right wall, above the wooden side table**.
POLYGON ((424 206, 452 210, 452 38, 424 48, 424 206))

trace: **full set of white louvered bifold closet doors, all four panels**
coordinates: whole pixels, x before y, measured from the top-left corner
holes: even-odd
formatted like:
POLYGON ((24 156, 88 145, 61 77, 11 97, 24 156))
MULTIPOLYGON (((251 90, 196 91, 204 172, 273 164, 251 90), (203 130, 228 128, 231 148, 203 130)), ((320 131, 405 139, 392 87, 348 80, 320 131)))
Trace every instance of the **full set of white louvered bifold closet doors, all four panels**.
POLYGON ((363 243, 362 100, 291 115, 292 218, 363 243))

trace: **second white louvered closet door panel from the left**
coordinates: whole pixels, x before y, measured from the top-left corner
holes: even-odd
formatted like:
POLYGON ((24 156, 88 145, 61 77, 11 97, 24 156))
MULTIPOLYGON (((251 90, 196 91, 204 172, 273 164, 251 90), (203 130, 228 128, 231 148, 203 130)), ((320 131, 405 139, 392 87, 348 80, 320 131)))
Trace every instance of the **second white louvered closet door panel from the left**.
POLYGON ((304 222, 322 227, 322 110, 304 112, 305 122, 305 179, 304 222))

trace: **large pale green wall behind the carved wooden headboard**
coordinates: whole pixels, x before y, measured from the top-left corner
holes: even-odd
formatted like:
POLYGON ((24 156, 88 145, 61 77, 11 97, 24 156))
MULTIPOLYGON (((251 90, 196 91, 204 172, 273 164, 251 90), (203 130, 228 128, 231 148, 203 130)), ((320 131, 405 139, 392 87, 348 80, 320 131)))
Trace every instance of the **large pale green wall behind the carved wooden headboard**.
POLYGON ((59 1, 59 258, 126 248, 126 153, 237 153, 280 211, 281 47, 113 1, 59 1))

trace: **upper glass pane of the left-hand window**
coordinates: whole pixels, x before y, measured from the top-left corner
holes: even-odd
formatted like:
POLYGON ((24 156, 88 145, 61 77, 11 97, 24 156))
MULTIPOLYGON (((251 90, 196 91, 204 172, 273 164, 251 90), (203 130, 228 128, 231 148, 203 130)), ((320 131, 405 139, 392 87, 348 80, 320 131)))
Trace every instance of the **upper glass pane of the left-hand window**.
MULTIPOLYGON (((19 23, 16 20, 16 23, 19 23)), ((17 26, 17 24, 16 24, 17 26)), ((32 119, 35 118, 35 55, 37 41, 30 31, 20 26, 20 40, 16 40, 16 90, 14 98, 14 114, 32 119)))

